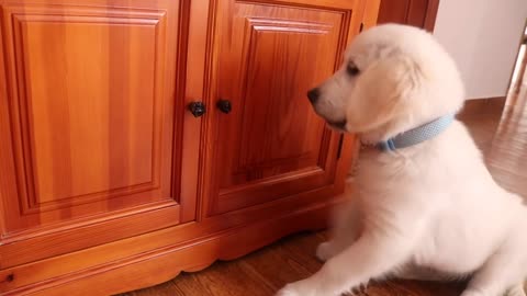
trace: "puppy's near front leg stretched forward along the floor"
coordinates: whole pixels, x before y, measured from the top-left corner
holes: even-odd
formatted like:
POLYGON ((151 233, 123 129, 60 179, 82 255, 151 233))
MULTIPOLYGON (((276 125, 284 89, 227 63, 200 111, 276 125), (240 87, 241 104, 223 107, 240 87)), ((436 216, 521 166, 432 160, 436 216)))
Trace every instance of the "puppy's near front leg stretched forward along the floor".
POLYGON ((406 262, 412 254, 415 237, 366 232, 354 244, 329 259, 312 277, 287 285, 278 295, 338 296, 406 262))

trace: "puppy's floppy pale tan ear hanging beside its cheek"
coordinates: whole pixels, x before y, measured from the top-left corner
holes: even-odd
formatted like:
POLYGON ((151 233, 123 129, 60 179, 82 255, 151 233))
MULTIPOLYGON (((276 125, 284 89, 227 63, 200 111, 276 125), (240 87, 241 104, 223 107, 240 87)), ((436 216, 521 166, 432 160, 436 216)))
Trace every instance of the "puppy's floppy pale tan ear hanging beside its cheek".
POLYGON ((414 62, 392 54, 370 65, 357 80, 348 105, 349 129, 368 132, 408 115, 421 75, 414 62))

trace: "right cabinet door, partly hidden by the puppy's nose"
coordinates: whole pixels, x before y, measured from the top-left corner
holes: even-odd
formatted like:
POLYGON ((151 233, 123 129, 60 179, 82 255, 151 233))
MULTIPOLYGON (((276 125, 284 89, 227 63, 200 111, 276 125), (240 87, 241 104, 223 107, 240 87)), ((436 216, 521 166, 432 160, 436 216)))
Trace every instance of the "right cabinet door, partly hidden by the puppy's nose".
POLYGON ((361 0, 217 2, 208 214, 334 185, 341 138, 305 93, 339 66, 363 8, 361 0))

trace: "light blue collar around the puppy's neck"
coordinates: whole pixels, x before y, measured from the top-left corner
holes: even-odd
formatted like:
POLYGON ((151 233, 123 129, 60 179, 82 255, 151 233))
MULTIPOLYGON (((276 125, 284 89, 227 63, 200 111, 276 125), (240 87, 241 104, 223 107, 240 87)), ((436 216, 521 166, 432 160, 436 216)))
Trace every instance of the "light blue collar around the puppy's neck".
POLYGON ((406 148, 429 140, 445 132, 445 129, 447 129, 447 127, 453 122, 453 114, 445 115, 430 123, 404 132, 386 141, 378 143, 377 147, 381 151, 395 151, 396 149, 406 148))

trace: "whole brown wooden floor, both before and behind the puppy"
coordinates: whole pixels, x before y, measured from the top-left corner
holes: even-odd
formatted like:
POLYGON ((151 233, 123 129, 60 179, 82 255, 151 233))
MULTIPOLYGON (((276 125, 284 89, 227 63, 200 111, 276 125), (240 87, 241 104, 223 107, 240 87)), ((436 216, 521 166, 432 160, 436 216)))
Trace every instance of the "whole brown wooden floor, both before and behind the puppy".
MULTIPOLYGON (((527 196, 527 90, 507 99, 503 113, 483 110, 462 116, 489 168, 498 183, 527 196)), ((284 284, 304 278, 321 267, 316 246, 326 232, 301 234, 232 262, 216 262, 209 269, 181 274, 161 285, 127 293, 127 296, 269 296, 284 284)), ((457 296, 463 283, 439 284, 390 281, 372 283, 358 295, 370 296, 457 296)))

